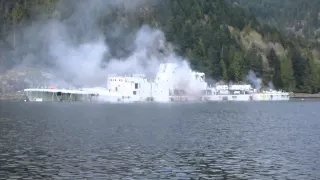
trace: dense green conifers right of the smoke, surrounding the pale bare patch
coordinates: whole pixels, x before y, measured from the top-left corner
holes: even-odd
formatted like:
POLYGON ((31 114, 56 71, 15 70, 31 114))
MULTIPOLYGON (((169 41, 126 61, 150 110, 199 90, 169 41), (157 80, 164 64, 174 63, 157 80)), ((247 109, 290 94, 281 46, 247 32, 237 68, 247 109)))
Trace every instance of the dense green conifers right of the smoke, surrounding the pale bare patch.
POLYGON ((179 52, 189 57, 192 65, 224 81, 241 81, 249 70, 262 77, 264 84, 276 88, 314 93, 319 91, 320 68, 310 44, 287 38, 276 28, 261 24, 247 11, 222 0, 197 0, 179 3, 169 1, 169 21, 164 22, 167 37, 178 44, 179 52), (170 26, 166 26, 168 22, 170 26), (254 44, 242 46, 228 28, 255 30, 265 43, 280 43, 285 53, 277 55, 273 48, 261 51, 254 44), (266 61, 263 60, 266 57, 266 61))

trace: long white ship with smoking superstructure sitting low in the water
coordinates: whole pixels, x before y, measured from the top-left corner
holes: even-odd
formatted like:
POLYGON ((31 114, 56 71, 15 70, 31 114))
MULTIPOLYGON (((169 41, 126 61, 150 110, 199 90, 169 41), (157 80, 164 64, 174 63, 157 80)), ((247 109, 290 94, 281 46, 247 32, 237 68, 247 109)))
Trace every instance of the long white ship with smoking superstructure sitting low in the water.
POLYGON ((109 75, 106 88, 24 89, 27 101, 176 102, 176 101, 283 101, 289 93, 258 90, 250 84, 208 85, 205 73, 177 63, 162 63, 154 79, 144 74, 109 75))

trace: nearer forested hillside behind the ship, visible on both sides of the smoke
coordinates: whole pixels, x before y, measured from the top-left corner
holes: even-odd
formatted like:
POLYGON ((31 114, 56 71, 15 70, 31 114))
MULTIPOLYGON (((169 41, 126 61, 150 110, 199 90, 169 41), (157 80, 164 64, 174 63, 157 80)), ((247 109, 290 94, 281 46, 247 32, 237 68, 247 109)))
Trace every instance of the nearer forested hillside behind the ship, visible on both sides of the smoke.
MULTIPOLYGON (((42 19, 70 16, 70 2, 1 0, 1 48, 12 49, 12 43, 6 39, 9 32, 13 27, 32 22, 39 17, 36 15, 43 14, 42 19)), ((215 80, 244 81, 249 70, 253 70, 264 84, 273 82, 276 88, 308 93, 320 90, 318 46, 287 38, 230 1, 161 0, 145 3, 135 11, 119 7, 110 11, 112 13, 101 17, 97 23, 108 41, 115 42, 112 48, 122 49, 114 51, 114 56, 123 55, 126 48, 121 43, 123 36, 108 36, 111 24, 117 22, 125 27, 123 34, 149 24, 164 31, 175 51, 188 57, 195 69, 215 80)), ((1 66, 19 63, 11 61, 1 57, 1 66)))

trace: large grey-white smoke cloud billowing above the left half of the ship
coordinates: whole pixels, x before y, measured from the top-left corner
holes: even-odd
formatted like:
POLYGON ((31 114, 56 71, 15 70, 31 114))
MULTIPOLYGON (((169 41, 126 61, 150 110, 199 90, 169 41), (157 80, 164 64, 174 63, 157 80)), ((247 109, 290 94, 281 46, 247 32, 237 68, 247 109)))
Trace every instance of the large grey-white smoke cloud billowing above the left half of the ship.
MULTIPOLYGON (((42 69, 53 75, 49 83, 55 85, 103 86, 106 85, 108 74, 145 73, 152 77, 160 62, 183 61, 171 51, 163 32, 158 29, 144 25, 124 34, 116 23, 110 24, 104 30, 106 32, 99 27, 101 17, 108 16, 112 8, 130 12, 144 3, 156 1, 66 2, 69 8, 72 7, 69 18, 60 20, 63 11, 57 11, 55 18, 40 19, 11 34, 10 38, 14 36, 16 40, 13 58, 18 65, 15 68, 32 66, 42 69), (106 34, 109 38, 123 36, 130 53, 122 57, 113 56, 111 49, 116 42, 106 41, 106 34)), ((63 5, 57 4, 61 8, 63 5)))

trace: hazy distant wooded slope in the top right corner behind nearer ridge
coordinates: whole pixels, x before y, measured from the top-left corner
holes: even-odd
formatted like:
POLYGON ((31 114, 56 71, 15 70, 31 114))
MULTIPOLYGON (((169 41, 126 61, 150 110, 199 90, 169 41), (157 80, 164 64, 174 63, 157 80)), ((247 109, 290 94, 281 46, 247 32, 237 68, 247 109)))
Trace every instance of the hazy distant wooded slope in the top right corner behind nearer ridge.
POLYGON ((320 42, 318 0, 232 0, 287 33, 320 42))

